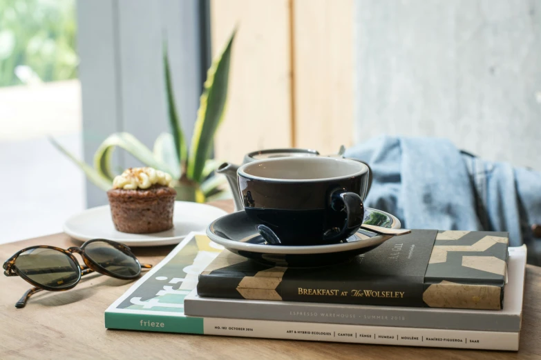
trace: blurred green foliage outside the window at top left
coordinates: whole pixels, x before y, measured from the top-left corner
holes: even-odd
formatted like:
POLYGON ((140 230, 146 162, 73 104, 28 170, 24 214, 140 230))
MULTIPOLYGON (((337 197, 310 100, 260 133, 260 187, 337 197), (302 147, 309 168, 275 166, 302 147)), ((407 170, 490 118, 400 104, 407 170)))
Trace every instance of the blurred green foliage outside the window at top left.
POLYGON ((77 78, 75 0, 0 0, 0 86, 77 78))

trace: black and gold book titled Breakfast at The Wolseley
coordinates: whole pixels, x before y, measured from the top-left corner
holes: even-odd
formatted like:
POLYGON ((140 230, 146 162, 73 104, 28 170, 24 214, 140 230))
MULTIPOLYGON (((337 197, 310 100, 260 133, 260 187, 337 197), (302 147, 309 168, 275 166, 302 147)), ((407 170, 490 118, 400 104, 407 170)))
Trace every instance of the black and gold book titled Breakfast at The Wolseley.
POLYGON ((268 266, 221 252, 200 274, 200 297, 500 310, 507 232, 412 230, 348 263, 268 266))

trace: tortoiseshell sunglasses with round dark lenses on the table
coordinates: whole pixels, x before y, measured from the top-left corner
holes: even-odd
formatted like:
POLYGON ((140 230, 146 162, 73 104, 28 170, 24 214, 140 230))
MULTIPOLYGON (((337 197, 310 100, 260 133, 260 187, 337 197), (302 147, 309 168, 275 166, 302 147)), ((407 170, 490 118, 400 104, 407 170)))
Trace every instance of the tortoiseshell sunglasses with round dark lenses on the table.
POLYGON ((31 283, 31 288, 17 301, 17 308, 24 308, 28 298, 41 290, 64 291, 77 285, 81 277, 91 272, 134 279, 141 274, 141 268, 152 268, 141 264, 130 248, 122 243, 106 239, 86 241, 80 248, 67 250, 55 246, 30 246, 16 252, 3 263, 6 277, 19 276, 31 283), (80 254, 85 265, 79 265, 73 253, 80 254))

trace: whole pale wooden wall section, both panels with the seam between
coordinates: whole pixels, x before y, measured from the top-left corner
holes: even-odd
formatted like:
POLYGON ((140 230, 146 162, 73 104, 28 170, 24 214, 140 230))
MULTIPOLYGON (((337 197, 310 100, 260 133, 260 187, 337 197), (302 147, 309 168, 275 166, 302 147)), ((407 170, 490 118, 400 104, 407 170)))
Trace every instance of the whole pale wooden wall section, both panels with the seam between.
POLYGON ((238 26, 217 159, 351 145, 352 10, 353 0, 211 1, 213 54, 238 26))

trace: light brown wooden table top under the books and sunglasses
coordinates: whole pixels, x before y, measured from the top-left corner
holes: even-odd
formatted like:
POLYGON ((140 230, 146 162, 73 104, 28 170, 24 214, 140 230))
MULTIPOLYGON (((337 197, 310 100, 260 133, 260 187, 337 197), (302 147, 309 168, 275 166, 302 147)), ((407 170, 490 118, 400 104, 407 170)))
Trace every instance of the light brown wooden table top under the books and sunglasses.
MULTIPOLYGON (((213 205, 233 208, 230 201, 213 205)), ((66 234, 7 243, 0 246, 0 261, 27 246, 77 244, 66 234)), ((157 264, 173 247, 133 248, 133 252, 142 262, 157 264)), ((535 266, 526 267, 519 352, 106 330, 104 311, 132 283, 91 274, 72 290, 39 292, 26 308, 17 309, 15 302, 30 284, 1 276, 0 359, 541 359, 541 268, 535 266)))

